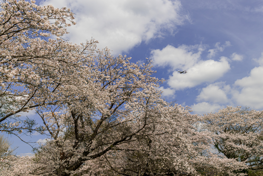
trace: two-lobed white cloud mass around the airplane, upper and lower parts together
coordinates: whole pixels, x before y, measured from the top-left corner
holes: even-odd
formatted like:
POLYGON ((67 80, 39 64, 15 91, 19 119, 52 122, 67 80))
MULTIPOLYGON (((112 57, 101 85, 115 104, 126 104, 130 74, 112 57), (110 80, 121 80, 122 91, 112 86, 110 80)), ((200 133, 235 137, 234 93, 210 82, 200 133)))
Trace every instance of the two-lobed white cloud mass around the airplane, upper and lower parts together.
POLYGON ((167 81, 170 88, 179 90, 195 87, 204 82, 214 82, 230 70, 228 58, 221 57, 218 61, 201 60, 205 45, 181 45, 174 47, 167 45, 162 50, 151 51, 151 58, 156 66, 169 66, 173 74, 167 81), (187 74, 180 74, 178 70, 187 70, 187 74))

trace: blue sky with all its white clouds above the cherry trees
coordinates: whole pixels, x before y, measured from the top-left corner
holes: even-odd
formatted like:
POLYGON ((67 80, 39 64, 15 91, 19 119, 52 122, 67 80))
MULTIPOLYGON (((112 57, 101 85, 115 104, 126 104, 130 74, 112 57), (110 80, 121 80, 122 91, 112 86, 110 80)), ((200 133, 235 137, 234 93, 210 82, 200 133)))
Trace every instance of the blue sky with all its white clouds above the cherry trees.
MULTIPOLYGON (((37 2, 38 3, 38 2, 37 2)), ((69 7, 77 25, 64 39, 94 39, 132 62, 154 60, 163 98, 203 115, 219 108, 263 109, 263 1, 46 0, 69 7), (178 70, 187 70, 179 74, 178 70)), ((33 113, 31 113, 33 116, 33 113)), ((26 116, 26 115, 24 115, 26 116)), ((34 135, 25 140, 41 141, 34 135)), ((31 148, 15 137, 18 154, 31 148)), ((32 152, 31 152, 32 153, 32 152)))

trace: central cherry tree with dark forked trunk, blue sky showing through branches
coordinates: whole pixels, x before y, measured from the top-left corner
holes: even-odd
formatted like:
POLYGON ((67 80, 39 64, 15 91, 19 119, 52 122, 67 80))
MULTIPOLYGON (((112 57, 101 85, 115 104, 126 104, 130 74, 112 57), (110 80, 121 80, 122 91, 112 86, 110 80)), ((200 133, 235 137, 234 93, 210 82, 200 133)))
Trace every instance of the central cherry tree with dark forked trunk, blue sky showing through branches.
POLYGON ((60 111, 37 109, 45 123, 42 128, 53 139, 37 154, 38 162, 47 164, 55 157, 50 167, 59 162, 58 175, 70 175, 86 160, 135 140, 134 136, 159 120, 166 103, 155 88, 158 79, 150 77, 154 73, 151 60, 143 65, 130 63, 130 58, 115 58, 107 49, 98 51, 96 59, 97 64, 90 64, 86 72, 76 75, 77 84, 59 91, 57 98, 63 104, 56 108, 60 111))

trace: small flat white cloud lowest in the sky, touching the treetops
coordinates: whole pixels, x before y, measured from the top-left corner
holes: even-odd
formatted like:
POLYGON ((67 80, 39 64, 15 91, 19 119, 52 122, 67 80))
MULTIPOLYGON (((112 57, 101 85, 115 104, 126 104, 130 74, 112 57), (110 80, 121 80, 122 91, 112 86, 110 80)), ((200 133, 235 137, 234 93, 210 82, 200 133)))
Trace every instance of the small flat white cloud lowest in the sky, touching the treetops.
POLYGON ((194 113, 197 114, 204 114, 210 112, 217 112, 219 109, 224 108, 224 106, 219 105, 218 103, 208 103, 208 102, 201 102, 191 106, 194 113))

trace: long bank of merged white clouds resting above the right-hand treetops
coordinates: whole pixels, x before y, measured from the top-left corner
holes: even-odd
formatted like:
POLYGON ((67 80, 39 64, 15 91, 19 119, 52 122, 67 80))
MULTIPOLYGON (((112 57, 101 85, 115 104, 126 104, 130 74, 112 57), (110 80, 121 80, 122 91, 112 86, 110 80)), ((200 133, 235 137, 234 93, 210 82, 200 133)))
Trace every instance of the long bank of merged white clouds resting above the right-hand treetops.
MULTIPOLYGON (((258 60, 260 61, 260 59, 258 60)), ((253 68, 249 76, 237 79, 232 85, 226 85, 225 82, 209 84, 196 97, 196 101, 199 103, 192 105, 192 108, 196 113, 204 111, 202 106, 204 106, 205 110, 206 106, 212 110, 212 107, 222 108, 226 105, 247 106, 256 110, 262 110, 262 75, 263 66, 259 66, 253 68)))

